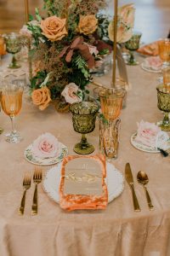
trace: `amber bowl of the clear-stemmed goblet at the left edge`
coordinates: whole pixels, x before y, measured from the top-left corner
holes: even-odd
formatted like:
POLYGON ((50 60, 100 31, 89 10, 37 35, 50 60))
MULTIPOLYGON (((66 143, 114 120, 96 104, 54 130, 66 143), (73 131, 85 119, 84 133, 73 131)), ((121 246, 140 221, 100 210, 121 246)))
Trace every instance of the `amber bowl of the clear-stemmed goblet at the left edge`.
POLYGON ((9 116, 15 116, 20 113, 22 107, 22 91, 14 94, 3 94, 1 96, 1 106, 3 112, 9 116))

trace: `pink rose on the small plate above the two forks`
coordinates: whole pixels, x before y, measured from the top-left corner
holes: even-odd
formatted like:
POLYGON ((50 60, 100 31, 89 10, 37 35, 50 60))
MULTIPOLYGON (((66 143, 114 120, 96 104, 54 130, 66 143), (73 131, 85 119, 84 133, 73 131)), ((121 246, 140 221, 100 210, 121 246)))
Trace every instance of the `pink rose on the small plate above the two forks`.
POLYGON ((60 143, 51 133, 43 133, 32 143, 32 153, 41 158, 51 158, 59 155, 60 143))

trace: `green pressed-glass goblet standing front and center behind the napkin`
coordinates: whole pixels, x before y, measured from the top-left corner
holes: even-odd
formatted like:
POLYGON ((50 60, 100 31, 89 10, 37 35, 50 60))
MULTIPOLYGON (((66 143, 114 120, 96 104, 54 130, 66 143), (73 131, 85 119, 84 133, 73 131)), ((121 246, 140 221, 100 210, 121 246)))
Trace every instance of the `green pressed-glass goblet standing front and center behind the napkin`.
POLYGON ((74 131, 82 133, 80 143, 74 147, 77 154, 91 154, 94 146, 87 141, 86 134, 94 131, 99 107, 94 102, 77 102, 70 106, 74 131))

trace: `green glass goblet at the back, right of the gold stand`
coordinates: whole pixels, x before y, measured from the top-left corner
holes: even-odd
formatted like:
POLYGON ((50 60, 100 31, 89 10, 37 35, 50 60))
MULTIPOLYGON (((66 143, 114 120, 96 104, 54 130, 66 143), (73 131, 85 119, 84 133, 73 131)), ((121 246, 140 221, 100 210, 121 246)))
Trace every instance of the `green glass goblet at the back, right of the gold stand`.
POLYGON ((139 49, 139 42, 142 36, 141 32, 134 32, 132 38, 130 38, 126 43, 126 49, 129 49, 129 59, 126 61, 127 65, 138 65, 139 61, 136 61, 133 55, 133 51, 139 49))

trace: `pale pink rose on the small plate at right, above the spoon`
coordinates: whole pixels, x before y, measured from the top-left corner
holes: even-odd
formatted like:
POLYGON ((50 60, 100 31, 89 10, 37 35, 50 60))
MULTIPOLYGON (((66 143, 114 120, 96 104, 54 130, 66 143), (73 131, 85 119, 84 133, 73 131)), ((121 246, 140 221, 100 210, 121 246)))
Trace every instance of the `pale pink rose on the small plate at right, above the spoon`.
POLYGON ((140 123, 138 123, 138 131, 135 141, 150 148, 156 148, 156 137, 160 131, 161 128, 154 123, 141 120, 140 123))

